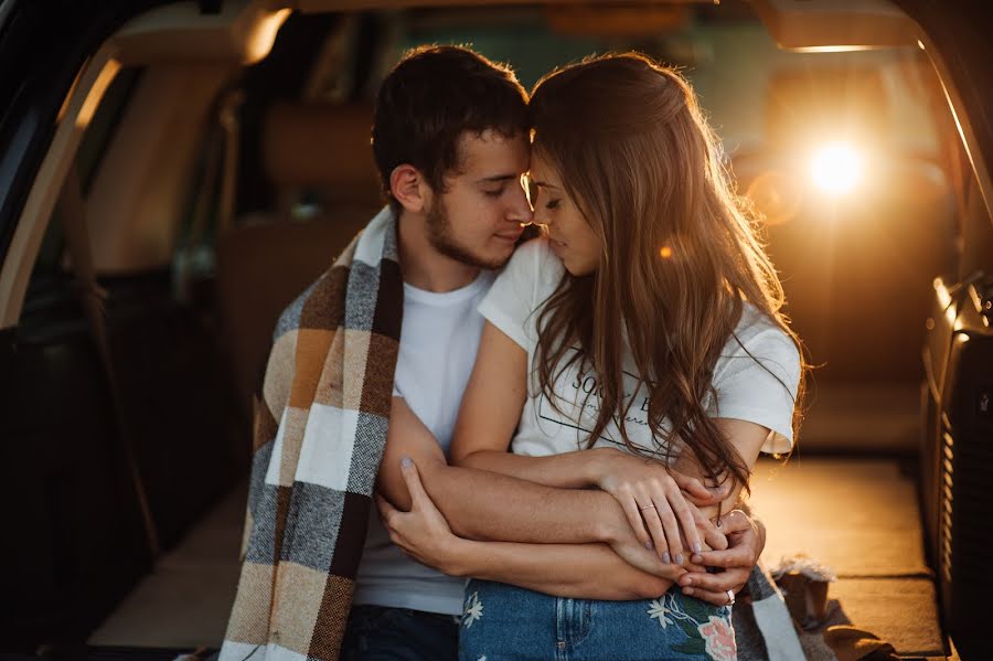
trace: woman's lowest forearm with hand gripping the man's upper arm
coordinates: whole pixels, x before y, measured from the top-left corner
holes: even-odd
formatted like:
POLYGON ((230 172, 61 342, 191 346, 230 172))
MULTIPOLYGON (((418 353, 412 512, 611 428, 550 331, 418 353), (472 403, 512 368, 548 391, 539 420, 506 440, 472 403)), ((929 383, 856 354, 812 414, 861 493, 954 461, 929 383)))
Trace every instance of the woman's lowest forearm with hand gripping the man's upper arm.
POLYGON ((403 477, 412 494, 409 512, 376 497, 389 537, 414 559, 450 576, 499 580, 558 597, 623 600, 659 597, 685 574, 682 567, 662 564, 658 565, 659 575, 641 572, 606 544, 516 544, 457 537, 425 492, 413 462, 405 462, 403 477))

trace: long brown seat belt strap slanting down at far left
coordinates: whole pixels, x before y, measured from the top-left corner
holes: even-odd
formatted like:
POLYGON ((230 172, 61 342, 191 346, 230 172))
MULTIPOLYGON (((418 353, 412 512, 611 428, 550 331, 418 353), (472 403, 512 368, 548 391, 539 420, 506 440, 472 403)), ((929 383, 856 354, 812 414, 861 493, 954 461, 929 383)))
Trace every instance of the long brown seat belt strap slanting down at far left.
POLYGON ((131 475, 131 484, 138 497, 138 505, 141 510, 141 521, 145 527, 148 551, 151 554, 151 559, 154 561, 159 555, 159 534, 156 529, 154 520, 152 519, 151 508, 149 507, 145 481, 141 479, 141 472, 138 469, 138 456, 135 451, 131 437, 127 433, 124 406, 120 401, 120 388, 114 372, 114 361, 110 358, 110 344, 108 341, 107 322, 104 311, 104 301, 107 298, 107 292, 96 280, 96 270, 93 265, 93 255, 89 244, 89 232, 86 228, 86 205, 83 200, 83 188, 75 164, 70 167, 65 183, 62 185, 58 203, 65 230, 66 248, 70 258, 72 259, 73 275, 76 280, 75 284, 78 288, 83 308, 86 311, 86 318, 89 322, 89 330, 93 333, 97 352, 100 355, 104 375, 107 379, 107 386, 110 391, 114 424, 117 428, 117 436, 120 439, 125 460, 127 461, 128 470, 131 475))

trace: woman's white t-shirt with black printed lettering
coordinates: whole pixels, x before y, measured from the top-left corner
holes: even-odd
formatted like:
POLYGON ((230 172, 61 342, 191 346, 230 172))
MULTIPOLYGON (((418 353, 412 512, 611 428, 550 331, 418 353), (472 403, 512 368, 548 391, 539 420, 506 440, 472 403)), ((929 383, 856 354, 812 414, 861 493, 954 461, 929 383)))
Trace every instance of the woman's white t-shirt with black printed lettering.
MULTIPOLYGON (((597 419, 597 379, 592 373, 583 373, 579 361, 563 372, 552 388, 557 407, 541 392, 537 381, 537 319, 564 273, 547 239, 536 238, 517 248, 479 306, 487 320, 527 352, 527 398, 511 446, 517 455, 547 456, 585 448, 597 419)), ((768 428, 762 451, 786 452, 792 447, 793 403, 800 379, 797 348, 748 303, 735 335, 737 339, 728 339, 714 367, 716 402, 708 396, 706 411, 711 417, 736 418, 768 428)), ((632 443, 652 451, 656 443, 647 420, 647 391, 639 384, 626 350, 624 404, 633 399, 626 416, 626 430, 632 443)), ((615 416, 594 447, 623 448, 617 422, 615 416)), ((671 456, 679 452, 675 447, 671 456)))

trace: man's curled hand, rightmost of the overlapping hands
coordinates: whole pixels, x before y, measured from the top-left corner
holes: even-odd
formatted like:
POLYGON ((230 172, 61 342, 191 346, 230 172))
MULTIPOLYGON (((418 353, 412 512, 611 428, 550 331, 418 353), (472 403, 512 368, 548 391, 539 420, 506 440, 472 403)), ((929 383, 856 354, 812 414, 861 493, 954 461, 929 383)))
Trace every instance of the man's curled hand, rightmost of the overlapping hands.
POLYGON ((680 577, 683 594, 725 606, 730 599, 727 590, 737 594, 748 582, 748 575, 758 562, 766 545, 761 523, 741 510, 734 510, 722 519, 720 530, 727 535, 728 548, 705 551, 693 555, 693 562, 707 567, 722 567, 723 572, 688 572, 680 577))

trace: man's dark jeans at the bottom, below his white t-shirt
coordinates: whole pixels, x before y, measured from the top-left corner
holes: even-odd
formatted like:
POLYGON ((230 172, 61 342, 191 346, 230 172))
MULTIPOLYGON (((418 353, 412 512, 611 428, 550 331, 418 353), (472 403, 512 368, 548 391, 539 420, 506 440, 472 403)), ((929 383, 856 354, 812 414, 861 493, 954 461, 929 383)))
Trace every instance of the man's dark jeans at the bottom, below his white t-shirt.
POLYGON ((453 661, 459 625, 450 615, 409 608, 352 606, 341 661, 453 661))

